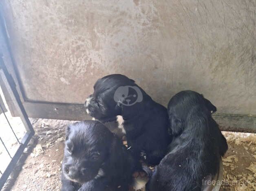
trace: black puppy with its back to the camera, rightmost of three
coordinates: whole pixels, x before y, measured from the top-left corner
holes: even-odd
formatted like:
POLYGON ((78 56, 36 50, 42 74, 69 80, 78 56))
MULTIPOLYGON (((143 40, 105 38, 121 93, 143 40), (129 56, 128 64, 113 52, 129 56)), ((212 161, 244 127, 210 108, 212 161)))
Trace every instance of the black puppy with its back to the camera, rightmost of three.
POLYGON ((215 111, 209 100, 194 91, 181 91, 171 98, 168 113, 174 138, 147 183, 147 191, 208 189, 203 179, 218 175, 221 156, 227 151, 226 139, 211 116, 215 111))

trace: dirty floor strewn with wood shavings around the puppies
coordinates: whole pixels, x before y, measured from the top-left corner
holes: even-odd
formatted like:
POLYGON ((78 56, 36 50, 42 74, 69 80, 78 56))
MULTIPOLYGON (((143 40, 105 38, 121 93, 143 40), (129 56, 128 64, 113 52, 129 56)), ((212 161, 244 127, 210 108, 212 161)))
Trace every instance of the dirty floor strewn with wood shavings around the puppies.
MULTIPOLYGON (((64 134, 71 121, 31 119, 35 136, 25 149, 4 191, 58 191, 64 134)), ((256 134, 223 132, 229 149, 223 157, 221 190, 256 190, 256 134)))

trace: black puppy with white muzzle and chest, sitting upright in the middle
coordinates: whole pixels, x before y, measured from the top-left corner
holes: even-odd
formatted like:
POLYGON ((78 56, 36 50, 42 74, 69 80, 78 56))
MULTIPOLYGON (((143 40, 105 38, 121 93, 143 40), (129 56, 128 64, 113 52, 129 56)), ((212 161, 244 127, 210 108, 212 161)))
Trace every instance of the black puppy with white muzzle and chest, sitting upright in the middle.
POLYGON ((100 78, 85 106, 87 113, 101 122, 119 121, 128 148, 137 159, 157 165, 166 154, 171 142, 167 110, 134 80, 121 74, 100 78))

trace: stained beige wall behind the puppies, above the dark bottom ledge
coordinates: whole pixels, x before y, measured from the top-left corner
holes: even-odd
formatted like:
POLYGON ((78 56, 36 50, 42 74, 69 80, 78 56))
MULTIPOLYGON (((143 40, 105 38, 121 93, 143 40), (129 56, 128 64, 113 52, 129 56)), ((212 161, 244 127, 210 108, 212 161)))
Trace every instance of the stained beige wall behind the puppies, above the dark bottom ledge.
POLYGON ((121 73, 167 105, 184 89, 256 115, 254 0, 4 0, 26 99, 83 103, 121 73))

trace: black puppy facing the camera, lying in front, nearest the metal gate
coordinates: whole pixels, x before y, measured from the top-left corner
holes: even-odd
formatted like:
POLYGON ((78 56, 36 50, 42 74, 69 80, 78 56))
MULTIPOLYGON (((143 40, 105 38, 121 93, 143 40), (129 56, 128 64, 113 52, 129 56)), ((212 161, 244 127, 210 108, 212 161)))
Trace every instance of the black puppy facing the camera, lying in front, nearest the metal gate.
POLYGON ((128 191, 141 169, 116 135, 97 121, 66 128, 62 191, 128 191))

